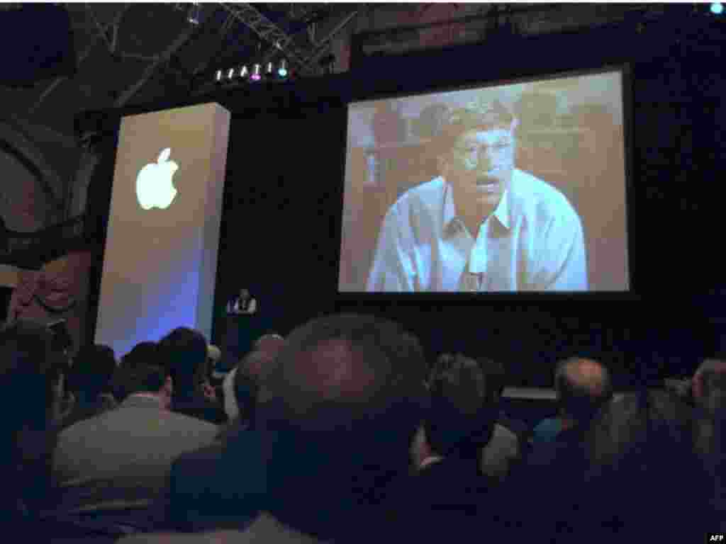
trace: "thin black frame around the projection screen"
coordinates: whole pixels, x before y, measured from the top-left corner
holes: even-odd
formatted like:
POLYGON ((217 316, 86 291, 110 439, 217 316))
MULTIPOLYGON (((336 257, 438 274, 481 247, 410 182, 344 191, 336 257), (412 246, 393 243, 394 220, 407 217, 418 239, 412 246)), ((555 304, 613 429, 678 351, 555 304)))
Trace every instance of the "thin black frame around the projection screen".
MULTIPOLYGON (((529 83, 533 81, 549 81, 558 78, 572 78, 582 75, 598 75, 602 73, 619 73, 621 76, 621 98, 622 98, 622 112, 623 112, 623 157, 624 157, 624 205, 625 205, 625 228, 626 236, 624 240, 626 250, 626 263, 627 263, 627 274, 629 289, 622 291, 596 291, 596 292, 572 292, 572 291, 558 291, 558 292, 412 292, 412 293, 401 293, 401 292, 366 292, 366 291, 341 291, 340 290, 340 274, 342 270, 342 261, 340 257, 343 255, 342 247, 338 245, 338 282, 336 285, 337 299, 339 302, 350 303, 350 302, 396 302, 406 305, 411 303, 412 305, 418 304, 419 302, 431 302, 431 303, 451 303, 451 302, 563 302, 569 300, 624 300, 624 301, 638 301, 641 300, 640 293, 636 289, 635 284, 635 273, 633 268, 632 259, 632 213, 631 213, 631 199, 633 194, 633 141, 632 141, 632 93, 633 93, 633 82, 632 82, 632 67, 629 62, 622 63, 608 63, 605 65, 598 65, 597 67, 580 68, 576 70, 564 70, 564 71, 547 71, 547 73, 534 74, 529 73, 522 75, 521 77, 515 78, 499 78, 492 79, 486 78, 481 81, 472 82, 469 81, 465 84, 455 83, 444 83, 441 86, 430 86, 425 90, 418 91, 386 91, 386 92, 373 92, 367 94, 367 96, 356 97, 350 100, 346 104, 346 144, 343 147, 345 156, 343 157, 343 191, 341 191, 341 202, 340 202, 340 225, 339 225, 339 239, 343 238, 343 218, 345 216, 345 191, 346 191, 346 178, 345 173, 347 172, 348 152, 351 149, 351 134, 348 131, 348 118, 351 107, 356 107, 361 104, 367 104, 370 102, 377 102, 386 99, 406 99, 415 98, 417 96, 425 96, 431 94, 444 94, 455 91, 468 91, 473 89, 484 89, 492 88, 496 86, 507 86, 517 83, 529 83)), ((376 233, 378 239, 378 233, 376 233)))

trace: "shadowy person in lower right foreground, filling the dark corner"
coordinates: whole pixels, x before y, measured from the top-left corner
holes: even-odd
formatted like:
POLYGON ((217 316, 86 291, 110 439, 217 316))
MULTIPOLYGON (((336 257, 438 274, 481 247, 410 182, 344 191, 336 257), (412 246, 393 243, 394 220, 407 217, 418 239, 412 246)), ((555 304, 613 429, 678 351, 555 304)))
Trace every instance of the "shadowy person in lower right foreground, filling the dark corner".
MULTIPOLYGON (((515 540, 687 542, 713 527, 706 472, 693 452, 693 411, 657 390, 611 397, 582 441, 528 463, 501 498, 515 540)), ((511 484, 511 485, 510 485, 511 484)))

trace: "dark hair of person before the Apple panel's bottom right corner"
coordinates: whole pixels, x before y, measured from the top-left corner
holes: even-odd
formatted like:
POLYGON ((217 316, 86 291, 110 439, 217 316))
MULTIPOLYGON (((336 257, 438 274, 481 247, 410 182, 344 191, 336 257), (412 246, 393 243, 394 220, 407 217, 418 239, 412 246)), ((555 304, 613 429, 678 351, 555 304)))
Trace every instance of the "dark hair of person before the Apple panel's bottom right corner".
POLYGON ((160 340, 158 354, 174 381, 174 397, 192 394, 208 377, 207 341, 199 331, 174 329, 160 340))

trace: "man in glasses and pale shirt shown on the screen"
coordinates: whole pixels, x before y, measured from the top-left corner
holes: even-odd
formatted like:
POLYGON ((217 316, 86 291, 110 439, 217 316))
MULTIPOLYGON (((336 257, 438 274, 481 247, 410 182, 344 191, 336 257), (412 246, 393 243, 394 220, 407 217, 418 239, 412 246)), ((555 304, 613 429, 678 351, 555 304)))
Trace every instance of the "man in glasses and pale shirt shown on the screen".
POLYGON ((499 100, 448 115, 441 176, 386 213, 368 292, 587 290, 579 216, 557 189, 515 168, 516 125, 499 100))

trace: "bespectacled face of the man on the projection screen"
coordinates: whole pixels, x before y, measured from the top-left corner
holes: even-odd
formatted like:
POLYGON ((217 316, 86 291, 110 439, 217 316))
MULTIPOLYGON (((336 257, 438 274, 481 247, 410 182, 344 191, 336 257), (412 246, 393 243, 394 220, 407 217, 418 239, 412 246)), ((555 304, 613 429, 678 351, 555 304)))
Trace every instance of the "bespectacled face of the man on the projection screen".
POLYGON ((476 202, 485 215, 499 205, 514 169, 514 123, 462 133, 444 158, 444 178, 462 202, 476 202))

